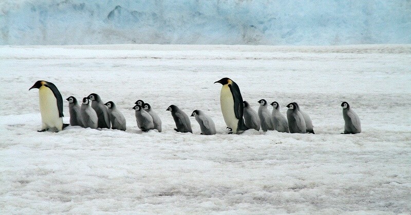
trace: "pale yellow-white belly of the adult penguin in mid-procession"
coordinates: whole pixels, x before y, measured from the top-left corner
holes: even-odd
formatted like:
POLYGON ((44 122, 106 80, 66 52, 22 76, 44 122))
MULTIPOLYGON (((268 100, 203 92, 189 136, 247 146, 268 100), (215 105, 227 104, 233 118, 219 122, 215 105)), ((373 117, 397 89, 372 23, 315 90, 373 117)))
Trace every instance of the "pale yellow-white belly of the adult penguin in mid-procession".
POLYGON ((237 133, 238 119, 234 113, 234 98, 228 85, 223 85, 220 94, 221 112, 227 127, 232 129, 233 134, 237 133))

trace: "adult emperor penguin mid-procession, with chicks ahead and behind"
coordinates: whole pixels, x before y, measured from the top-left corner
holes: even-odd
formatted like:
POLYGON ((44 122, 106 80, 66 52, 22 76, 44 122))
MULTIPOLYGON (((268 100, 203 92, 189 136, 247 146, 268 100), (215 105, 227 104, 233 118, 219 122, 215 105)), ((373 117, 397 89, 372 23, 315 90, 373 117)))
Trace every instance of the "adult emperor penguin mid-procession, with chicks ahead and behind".
POLYGON ((246 131, 242 115, 244 114, 244 106, 242 104, 242 96, 238 85, 230 78, 221 78, 214 83, 221 83, 220 105, 222 116, 233 134, 241 131, 246 131))

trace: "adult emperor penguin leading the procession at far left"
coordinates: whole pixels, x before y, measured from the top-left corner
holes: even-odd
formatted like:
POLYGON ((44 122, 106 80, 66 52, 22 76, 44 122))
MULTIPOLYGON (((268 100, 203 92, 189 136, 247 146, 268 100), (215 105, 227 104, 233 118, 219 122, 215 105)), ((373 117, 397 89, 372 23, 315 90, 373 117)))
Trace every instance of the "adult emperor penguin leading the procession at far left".
POLYGON ((63 124, 63 98, 60 91, 51 82, 39 80, 29 89, 39 89, 40 114, 42 116, 42 129, 45 132, 55 129, 63 130, 68 124, 63 124))

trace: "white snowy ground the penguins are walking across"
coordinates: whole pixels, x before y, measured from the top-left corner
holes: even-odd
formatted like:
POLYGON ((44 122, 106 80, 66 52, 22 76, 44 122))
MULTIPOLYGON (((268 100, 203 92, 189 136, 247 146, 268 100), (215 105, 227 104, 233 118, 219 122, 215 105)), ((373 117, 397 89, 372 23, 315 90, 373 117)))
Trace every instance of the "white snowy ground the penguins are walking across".
MULTIPOLYGON (((411 212, 411 46, 113 45, 0 47, 2 213, 411 212), (297 101, 315 135, 229 135, 222 77, 245 100, 297 101), (63 98, 113 100, 127 131, 38 133, 36 81, 63 98), (138 130, 134 102, 152 104, 163 132, 138 130), (341 135, 342 101, 363 132, 341 135), (203 110, 217 135, 181 134, 170 104, 203 110)), ((286 107, 282 107, 285 114, 286 107)), ((64 100, 64 121, 69 121, 64 100)))

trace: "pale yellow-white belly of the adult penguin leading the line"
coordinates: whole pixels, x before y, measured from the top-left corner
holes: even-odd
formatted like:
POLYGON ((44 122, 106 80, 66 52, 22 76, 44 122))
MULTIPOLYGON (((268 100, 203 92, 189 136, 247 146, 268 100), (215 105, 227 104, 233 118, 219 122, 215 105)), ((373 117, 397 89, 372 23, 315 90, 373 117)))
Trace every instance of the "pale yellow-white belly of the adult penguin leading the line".
POLYGON ((39 103, 43 123, 42 129, 55 127, 58 131, 63 130, 63 118, 60 117, 57 99, 50 88, 40 87, 39 103))

